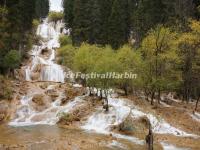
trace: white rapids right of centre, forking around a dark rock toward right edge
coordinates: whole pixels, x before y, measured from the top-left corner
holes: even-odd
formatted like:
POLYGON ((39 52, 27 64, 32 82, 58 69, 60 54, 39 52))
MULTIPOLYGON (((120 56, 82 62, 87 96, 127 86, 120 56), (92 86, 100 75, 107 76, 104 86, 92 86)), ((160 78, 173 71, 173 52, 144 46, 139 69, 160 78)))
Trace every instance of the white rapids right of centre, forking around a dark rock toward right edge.
POLYGON ((186 133, 180 129, 177 129, 167 123, 164 119, 158 119, 152 114, 146 114, 140 111, 134 105, 128 104, 124 99, 112 99, 109 98, 110 110, 109 112, 104 112, 102 108, 97 109, 97 111, 89 117, 85 125, 82 126, 83 129, 95 131, 102 134, 110 134, 117 138, 123 138, 133 141, 137 144, 142 144, 144 141, 139 140, 135 137, 125 136, 121 134, 113 133, 112 127, 117 126, 122 123, 128 115, 131 115, 133 119, 138 119, 140 117, 146 116, 151 122, 153 132, 158 134, 173 134, 175 136, 184 137, 197 137, 196 135, 186 133))

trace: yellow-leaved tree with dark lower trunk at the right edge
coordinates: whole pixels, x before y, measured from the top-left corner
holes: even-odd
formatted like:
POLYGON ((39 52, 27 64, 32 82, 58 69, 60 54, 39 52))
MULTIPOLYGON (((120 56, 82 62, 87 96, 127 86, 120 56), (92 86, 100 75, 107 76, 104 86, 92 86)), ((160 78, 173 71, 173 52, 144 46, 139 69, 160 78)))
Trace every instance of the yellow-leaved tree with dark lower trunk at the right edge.
POLYGON ((179 56, 182 68, 182 93, 187 102, 191 97, 199 95, 200 81, 200 22, 191 21, 190 32, 182 33, 178 39, 179 56))

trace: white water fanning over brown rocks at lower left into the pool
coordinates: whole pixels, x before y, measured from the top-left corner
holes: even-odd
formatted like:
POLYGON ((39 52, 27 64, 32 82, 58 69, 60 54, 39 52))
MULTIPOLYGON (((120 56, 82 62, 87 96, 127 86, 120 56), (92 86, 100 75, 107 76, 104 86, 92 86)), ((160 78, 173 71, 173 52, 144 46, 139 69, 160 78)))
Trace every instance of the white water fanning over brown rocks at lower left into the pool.
MULTIPOLYGON (((51 86, 52 87, 52 86, 51 86)), ((63 93, 52 102, 50 107, 42 112, 35 111, 32 108, 32 97, 24 96, 21 99, 21 105, 17 110, 16 119, 11 121, 11 126, 30 126, 30 125, 55 125, 59 121, 61 113, 68 113, 73 109, 81 106, 84 101, 82 97, 76 97, 73 101, 61 106, 61 99, 64 97, 63 93)))

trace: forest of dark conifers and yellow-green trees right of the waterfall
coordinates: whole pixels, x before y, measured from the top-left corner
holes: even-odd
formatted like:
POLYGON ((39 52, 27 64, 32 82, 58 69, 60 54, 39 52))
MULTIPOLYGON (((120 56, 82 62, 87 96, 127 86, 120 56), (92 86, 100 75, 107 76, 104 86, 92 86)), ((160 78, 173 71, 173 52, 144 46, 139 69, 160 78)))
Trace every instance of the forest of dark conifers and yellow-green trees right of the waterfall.
POLYGON ((65 0, 64 19, 72 30, 68 43, 81 47, 75 52, 64 43, 61 59, 80 72, 135 72, 136 81, 109 81, 107 86, 122 88, 127 94, 142 90, 152 102, 154 97, 159 101, 162 92, 197 100, 199 5, 198 0, 65 0), (71 56, 74 61, 69 61, 71 56))

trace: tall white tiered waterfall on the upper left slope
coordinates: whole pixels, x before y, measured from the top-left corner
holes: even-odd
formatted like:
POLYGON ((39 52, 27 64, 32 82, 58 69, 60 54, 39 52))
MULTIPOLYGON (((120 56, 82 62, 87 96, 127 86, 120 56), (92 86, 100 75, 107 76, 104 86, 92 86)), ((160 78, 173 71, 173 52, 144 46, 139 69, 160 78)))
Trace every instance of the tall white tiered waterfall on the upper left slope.
POLYGON ((53 81, 64 83, 65 73, 61 66, 54 63, 55 49, 60 47, 59 35, 61 34, 61 28, 64 27, 62 21, 58 21, 57 24, 44 20, 42 24, 38 26, 37 35, 43 38, 41 46, 33 46, 31 51, 32 62, 26 66, 25 79, 31 81, 32 76, 35 73, 39 73, 36 76, 37 81, 53 81), (43 49, 47 49, 51 55, 49 58, 44 58, 41 55, 43 49), (35 71, 40 66, 40 70, 35 71))

